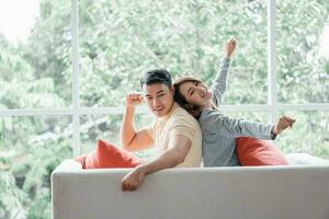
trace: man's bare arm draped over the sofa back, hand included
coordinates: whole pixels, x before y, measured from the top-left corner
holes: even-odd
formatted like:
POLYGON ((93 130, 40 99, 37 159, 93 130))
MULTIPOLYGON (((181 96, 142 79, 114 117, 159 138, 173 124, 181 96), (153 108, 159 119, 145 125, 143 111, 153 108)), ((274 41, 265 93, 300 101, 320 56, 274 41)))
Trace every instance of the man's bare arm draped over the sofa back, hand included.
POLYGON ((177 135, 169 141, 169 146, 172 147, 169 147, 169 149, 157 159, 141 164, 128 173, 122 181, 122 191, 136 191, 147 174, 168 168, 174 168, 184 162, 192 141, 183 135, 177 135))

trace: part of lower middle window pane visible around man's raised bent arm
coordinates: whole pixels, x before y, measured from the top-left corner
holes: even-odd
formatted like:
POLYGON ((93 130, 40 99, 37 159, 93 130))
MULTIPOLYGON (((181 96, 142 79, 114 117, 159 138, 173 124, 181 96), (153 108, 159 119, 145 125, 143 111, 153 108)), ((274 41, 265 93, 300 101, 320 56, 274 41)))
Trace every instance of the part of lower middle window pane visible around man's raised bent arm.
MULTIPOLYGON (((98 139, 103 139, 122 147, 120 128, 123 115, 84 115, 81 116, 81 153, 87 153, 95 148, 98 139)), ((154 122, 151 114, 135 115, 136 128, 143 128, 154 122)), ((139 158, 149 160, 157 154, 156 149, 135 152, 139 158)))

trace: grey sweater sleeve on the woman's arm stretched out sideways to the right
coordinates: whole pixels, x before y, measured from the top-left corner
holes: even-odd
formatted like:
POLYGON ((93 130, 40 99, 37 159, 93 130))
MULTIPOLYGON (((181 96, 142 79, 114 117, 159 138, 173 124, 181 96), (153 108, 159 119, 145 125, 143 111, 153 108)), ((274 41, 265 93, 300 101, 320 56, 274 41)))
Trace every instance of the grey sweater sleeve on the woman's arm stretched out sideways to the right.
POLYGON ((222 137, 253 137, 258 139, 271 139, 273 125, 231 118, 217 111, 204 111, 200 117, 200 124, 205 135, 222 137))

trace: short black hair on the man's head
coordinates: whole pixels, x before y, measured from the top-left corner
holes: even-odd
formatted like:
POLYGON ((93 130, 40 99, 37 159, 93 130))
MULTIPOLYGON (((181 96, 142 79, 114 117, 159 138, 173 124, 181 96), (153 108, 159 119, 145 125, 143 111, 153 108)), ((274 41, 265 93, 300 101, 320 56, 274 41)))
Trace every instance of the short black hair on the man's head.
POLYGON ((151 85, 154 83, 163 83, 168 88, 171 88, 172 80, 170 73, 166 69, 157 69, 146 72, 140 79, 141 88, 144 84, 151 85))

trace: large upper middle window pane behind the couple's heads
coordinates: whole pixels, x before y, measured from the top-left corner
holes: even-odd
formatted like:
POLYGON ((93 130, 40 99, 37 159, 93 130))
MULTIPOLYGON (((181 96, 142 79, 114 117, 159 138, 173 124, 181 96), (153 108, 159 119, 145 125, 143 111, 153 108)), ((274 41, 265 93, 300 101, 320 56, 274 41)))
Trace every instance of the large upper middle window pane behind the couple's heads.
POLYGON ((237 0, 79 1, 81 105, 123 105, 155 68, 211 83, 230 36, 238 50, 225 103, 265 103, 265 8, 237 0))

